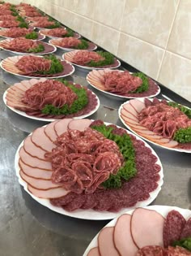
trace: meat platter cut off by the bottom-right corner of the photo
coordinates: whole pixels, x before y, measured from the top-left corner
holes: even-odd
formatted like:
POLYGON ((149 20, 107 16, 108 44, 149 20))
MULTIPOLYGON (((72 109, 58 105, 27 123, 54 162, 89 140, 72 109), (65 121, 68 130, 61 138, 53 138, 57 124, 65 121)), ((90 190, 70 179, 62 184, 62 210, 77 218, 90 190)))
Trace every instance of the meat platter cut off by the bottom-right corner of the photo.
POLYGON ((190 255, 189 249, 172 247, 191 236, 190 223, 191 211, 175 206, 130 210, 108 223, 83 256, 190 255))

